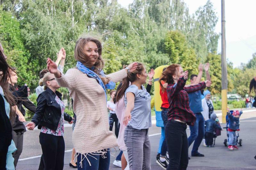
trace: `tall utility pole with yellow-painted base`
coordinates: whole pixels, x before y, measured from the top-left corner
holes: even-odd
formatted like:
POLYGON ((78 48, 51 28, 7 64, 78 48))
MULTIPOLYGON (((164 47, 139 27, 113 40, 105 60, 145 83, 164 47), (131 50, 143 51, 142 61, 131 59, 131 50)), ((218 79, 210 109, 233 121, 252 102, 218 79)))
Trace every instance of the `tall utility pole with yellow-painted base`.
POLYGON ((225 0, 221 0, 221 110, 222 123, 226 122, 227 115, 227 89, 228 89, 228 72, 226 59, 226 35, 225 35, 225 0))

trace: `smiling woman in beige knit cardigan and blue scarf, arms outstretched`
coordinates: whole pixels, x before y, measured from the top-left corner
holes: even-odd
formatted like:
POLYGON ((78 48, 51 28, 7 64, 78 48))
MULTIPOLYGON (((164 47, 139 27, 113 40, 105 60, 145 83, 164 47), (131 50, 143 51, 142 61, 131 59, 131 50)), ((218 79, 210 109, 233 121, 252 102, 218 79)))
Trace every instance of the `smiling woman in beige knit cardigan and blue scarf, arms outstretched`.
POLYGON ((48 70, 54 74, 60 86, 68 88, 74 100, 76 127, 72 141, 78 153, 78 169, 109 169, 109 148, 118 145, 113 132, 109 131, 106 88, 137 68, 137 63, 132 63, 123 70, 105 76, 101 52, 100 41, 90 37, 80 38, 74 53, 76 68, 69 69, 65 75, 50 58, 47 59, 48 70))

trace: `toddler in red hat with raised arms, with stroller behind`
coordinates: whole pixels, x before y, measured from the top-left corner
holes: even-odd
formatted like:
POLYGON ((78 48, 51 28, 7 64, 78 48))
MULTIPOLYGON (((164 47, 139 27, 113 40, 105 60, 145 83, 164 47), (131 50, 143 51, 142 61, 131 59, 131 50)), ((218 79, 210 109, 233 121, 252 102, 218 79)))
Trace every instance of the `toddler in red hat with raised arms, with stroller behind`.
MULTIPOLYGON (((227 146, 228 145, 228 149, 230 150, 234 150, 234 149, 238 149, 238 147, 236 146, 238 143, 238 137, 239 137, 239 133, 238 131, 240 131, 239 129, 239 118, 240 115, 243 113, 242 109, 239 112, 238 110, 230 110, 229 108, 227 109, 227 116, 226 116, 226 129, 227 129, 227 136, 228 136, 228 140, 225 139, 224 140, 224 145, 227 146), (236 136, 236 132, 237 132, 237 136, 236 136)), ((242 139, 239 140, 239 145, 242 146, 242 139)))

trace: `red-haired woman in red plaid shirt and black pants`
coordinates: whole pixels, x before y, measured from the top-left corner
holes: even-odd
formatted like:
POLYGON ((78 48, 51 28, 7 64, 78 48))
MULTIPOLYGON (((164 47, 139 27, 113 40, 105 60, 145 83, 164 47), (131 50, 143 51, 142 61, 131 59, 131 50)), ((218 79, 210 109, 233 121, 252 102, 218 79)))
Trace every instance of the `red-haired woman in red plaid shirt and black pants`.
MULTIPOLYGON (((183 72, 179 64, 172 64, 166 68, 159 79, 168 83, 166 88, 169 112, 168 122, 165 128, 165 138, 169 153, 169 165, 167 170, 187 169, 188 166, 188 137, 187 124, 193 126, 196 121, 195 114, 189 107, 188 93, 196 92, 211 85, 206 80, 197 85, 185 87, 188 79, 188 71, 183 72)), ((163 85, 160 83, 162 90, 163 85)))

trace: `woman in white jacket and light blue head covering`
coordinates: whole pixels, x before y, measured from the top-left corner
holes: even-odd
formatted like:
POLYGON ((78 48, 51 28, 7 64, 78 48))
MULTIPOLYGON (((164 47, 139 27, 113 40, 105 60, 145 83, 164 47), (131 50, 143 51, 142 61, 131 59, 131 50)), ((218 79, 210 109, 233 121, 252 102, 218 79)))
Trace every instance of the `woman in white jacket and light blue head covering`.
MULTIPOLYGON (((209 90, 204 91, 204 99, 202 99, 202 107, 203 107, 203 112, 202 115, 204 116, 204 121, 207 121, 210 119, 210 115, 214 112, 213 108, 213 103, 211 98, 211 92, 209 90)), ((204 146, 205 145, 205 139, 204 139, 204 146)))

